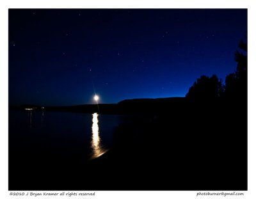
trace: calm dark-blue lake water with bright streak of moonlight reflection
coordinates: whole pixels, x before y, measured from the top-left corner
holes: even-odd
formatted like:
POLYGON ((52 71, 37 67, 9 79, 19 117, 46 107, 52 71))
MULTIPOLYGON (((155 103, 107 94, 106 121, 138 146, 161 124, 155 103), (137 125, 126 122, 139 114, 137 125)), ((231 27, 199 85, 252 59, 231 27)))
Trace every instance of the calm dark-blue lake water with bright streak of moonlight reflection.
POLYGON ((11 157, 91 159, 113 144, 113 132, 123 116, 97 113, 10 111, 11 157))

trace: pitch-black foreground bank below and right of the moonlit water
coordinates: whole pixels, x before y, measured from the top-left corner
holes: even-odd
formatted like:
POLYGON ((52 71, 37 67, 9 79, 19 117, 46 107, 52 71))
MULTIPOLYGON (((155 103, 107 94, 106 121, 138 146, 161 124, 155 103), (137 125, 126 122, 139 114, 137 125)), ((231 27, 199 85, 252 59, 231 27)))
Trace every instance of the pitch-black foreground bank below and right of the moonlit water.
POLYGON ((79 151, 14 152, 10 136, 9 189, 246 190, 246 106, 163 105, 121 123, 111 150, 90 161, 79 151))

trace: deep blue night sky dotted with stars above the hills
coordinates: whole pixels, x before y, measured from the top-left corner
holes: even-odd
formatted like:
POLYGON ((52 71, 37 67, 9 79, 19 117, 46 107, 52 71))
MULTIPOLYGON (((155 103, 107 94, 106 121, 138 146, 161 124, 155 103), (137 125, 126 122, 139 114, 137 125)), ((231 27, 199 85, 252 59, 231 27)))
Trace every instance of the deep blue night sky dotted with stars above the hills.
POLYGON ((247 10, 9 10, 9 103, 184 97, 236 70, 247 10))

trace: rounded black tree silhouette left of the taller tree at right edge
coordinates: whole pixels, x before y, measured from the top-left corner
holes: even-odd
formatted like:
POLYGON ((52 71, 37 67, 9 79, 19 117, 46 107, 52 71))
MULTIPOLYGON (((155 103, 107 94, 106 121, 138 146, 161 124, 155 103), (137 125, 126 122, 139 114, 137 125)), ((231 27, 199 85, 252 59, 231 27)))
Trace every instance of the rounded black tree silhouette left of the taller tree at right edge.
POLYGON ((191 100, 216 100, 223 93, 221 79, 216 75, 212 77, 201 76, 189 88, 186 97, 191 100))

